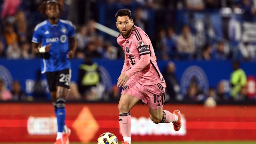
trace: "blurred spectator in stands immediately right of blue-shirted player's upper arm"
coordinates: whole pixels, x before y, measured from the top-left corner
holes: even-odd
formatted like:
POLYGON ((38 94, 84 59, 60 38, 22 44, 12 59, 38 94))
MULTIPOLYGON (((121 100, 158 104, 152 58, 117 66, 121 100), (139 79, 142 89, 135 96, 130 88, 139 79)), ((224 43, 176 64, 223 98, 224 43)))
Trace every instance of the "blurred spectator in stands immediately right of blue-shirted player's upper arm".
POLYGON ((86 26, 81 27, 80 31, 75 34, 75 38, 77 41, 77 50, 83 51, 90 41, 87 27, 86 26))

